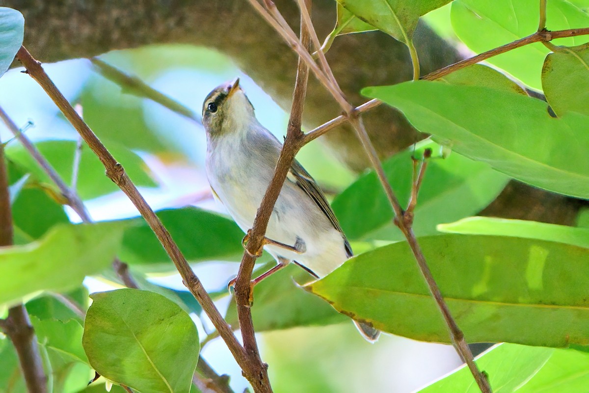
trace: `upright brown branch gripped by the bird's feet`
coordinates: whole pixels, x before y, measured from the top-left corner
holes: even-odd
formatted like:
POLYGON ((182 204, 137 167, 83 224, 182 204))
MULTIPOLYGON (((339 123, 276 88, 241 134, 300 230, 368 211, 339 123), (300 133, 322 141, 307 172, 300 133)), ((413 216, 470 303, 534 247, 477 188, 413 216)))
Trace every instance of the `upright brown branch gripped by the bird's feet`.
MULTIPOLYGON (((301 40, 303 45, 309 44, 309 34, 303 28, 301 24, 301 40)), ((309 78, 309 72, 305 65, 305 61, 299 58, 299 64, 297 66, 297 76, 294 83, 294 93, 292 108, 290 110, 289 124, 286 131, 286 139, 284 145, 280 151, 280 156, 276 164, 276 170, 274 171, 274 177, 260 204, 256 214, 256 219, 252 230, 250 231, 250 238, 247 242, 247 250, 243 253, 241 258, 241 265, 239 267, 239 273, 237 275, 237 282, 235 287, 236 303, 237 303, 237 314, 239 316, 239 325, 241 328, 241 335, 243 337, 243 345, 246 348, 247 353, 250 356, 259 358, 259 351, 257 348, 257 342, 255 332, 253 328, 252 312, 250 310, 250 280, 252 279, 252 272, 254 264, 259 250, 262 249, 263 239, 266 234, 270 215, 274 208, 274 204, 278 199, 282 184, 286 180, 286 175, 290 170, 290 166, 294 160, 294 156, 302 147, 301 141, 303 133, 301 131, 301 121, 303 115, 303 106, 305 104, 305 95, 307 90, 307 80, 309 78)), ((267 378, 267 374, 260 375, 260 383, 264 382, 263 378, 267 378)), ((254 389, 256 387, 254 386, 254 389)), ((267 389, 260 389, 260 391, 272 391, 269 383, 267 389)))

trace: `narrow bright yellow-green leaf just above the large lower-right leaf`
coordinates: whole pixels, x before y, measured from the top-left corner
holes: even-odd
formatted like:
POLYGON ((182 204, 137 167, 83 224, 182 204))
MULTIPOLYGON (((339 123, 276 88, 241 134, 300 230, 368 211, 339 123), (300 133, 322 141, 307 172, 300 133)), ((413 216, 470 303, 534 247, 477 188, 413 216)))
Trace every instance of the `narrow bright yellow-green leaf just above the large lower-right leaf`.
POLYGON ((439 224, 438 230, 465 235, 524 237, 589 248, 589 229, 535 221, 468 217, 455 223, 439 224))

